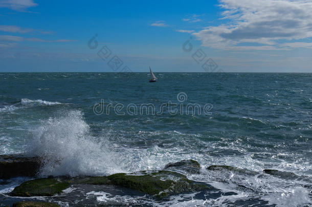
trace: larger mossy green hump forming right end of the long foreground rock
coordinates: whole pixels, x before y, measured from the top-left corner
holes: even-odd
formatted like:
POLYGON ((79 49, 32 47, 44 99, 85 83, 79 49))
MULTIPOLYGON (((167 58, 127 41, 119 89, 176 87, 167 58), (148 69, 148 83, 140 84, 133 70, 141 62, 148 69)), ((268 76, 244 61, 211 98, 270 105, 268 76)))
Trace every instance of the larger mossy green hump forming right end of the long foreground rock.
POLYGON ((109 175, 107 178, 112 185, 130 188, 158 198, 211 188, 206 183, 196 183, 187 179, 185 175, 165 170, 145 175, 118 173, 109 175))

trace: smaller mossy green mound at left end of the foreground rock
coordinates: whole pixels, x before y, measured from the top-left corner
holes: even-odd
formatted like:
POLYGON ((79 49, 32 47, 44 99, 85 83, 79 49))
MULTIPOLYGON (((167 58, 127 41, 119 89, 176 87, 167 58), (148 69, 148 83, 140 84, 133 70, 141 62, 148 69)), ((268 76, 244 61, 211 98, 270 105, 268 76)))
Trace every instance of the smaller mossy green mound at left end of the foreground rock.
POLYGON ((40 178, 21 183, 10 193, 11 196, 53 196, 61 193, 70 185, 66 181, 58 181, 54 178, 40 178))

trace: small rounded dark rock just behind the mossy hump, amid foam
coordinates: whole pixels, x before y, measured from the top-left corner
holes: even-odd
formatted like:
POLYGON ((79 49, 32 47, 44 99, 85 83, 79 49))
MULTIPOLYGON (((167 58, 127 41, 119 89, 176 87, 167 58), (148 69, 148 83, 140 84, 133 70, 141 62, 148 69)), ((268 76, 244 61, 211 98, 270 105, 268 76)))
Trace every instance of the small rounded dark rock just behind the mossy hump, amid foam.
POLYGON ((199 174, 200 165, 193 159, 183 159, 177 163, 169 163, 165 166, 166 170, 175 169, 179 171, 185 171, 191 174, 199 174))

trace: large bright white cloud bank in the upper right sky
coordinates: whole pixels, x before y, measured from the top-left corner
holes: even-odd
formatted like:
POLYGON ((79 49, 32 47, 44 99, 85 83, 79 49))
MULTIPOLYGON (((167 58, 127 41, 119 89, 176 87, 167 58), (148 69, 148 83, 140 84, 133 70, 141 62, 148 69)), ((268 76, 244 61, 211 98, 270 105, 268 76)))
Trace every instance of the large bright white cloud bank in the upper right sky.
POLYGON ((227 25, 193 33, 206 47, 217 49, 280 49, 277 40, 312 37, 311 0, 220 0, 227 25), (241 46, 241 43, 263 45, 241 46))

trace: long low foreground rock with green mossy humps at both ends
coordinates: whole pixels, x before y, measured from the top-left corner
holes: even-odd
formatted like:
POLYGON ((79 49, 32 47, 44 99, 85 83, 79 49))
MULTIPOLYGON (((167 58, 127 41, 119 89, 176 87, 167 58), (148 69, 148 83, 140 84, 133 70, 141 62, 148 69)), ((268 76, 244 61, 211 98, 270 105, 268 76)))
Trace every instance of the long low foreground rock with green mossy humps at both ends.
POLYGON ((56 177, 29 180, 16 187, 10 196, 53 196, 70 185, 114 185, 140 191, 156 198, 164 198, 180 193, 199 192, 212 189, 206 183, 187 179, 183 174, 171 171, 118 173, 99 177, 56 177))

